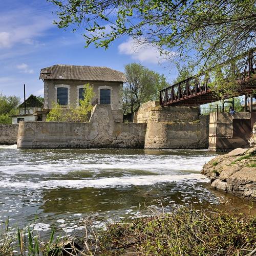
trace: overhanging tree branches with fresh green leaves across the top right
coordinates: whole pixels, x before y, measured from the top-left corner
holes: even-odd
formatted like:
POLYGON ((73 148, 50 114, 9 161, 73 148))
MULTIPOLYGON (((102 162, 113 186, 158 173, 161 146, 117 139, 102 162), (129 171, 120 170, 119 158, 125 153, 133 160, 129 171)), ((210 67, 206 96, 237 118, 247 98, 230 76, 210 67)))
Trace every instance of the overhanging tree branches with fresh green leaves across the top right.
POLYGON ((196 60, 202 70, 255 47, 254 0, 48 0, 59 28, 84 28, 86 46, 108 48, 128 35, 170 60, 196 60))

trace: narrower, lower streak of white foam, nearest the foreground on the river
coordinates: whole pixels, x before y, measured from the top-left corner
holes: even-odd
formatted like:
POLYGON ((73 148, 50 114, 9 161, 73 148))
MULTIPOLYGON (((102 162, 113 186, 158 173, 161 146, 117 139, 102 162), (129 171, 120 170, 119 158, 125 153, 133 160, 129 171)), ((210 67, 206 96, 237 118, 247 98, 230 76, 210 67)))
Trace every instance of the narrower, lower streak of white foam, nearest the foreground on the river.
POLYGON ((17 189, 26 187, 33 189, 52 189, 57 187, 66 188, 111 188, 111 187, 127 187, 131 185, 143 186, 154 185, 163 182, 208 182, 209 180, 201 174, 188 175, 148 175, 133 176, 119 178, 101 178, 94 180, 46 180, 39 182, 20 182, 20 181, 0 181, 0 187, 14 187, 17 189))

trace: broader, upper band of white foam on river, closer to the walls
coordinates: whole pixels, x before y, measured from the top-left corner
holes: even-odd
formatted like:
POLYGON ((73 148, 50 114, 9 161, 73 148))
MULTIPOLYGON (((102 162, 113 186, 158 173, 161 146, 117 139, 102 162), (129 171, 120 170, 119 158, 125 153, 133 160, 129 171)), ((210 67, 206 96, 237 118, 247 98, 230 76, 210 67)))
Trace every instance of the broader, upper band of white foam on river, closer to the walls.
POLYGON ((110 158, 97 158, 97 156, 84 157, 83 160, 48 160, 5 164, 0 168, 0 173, 16 174, 68 174, 79 171, 87 173, 100 173, 102 170, 144 170, 166 174, 173 170, 191 170, 200 172, 202 166, 214 156, 148 156, 142 155, 136 158, 124 156, 110 156, 110 158), (145 157, 147 156, 147 157, 145 157))

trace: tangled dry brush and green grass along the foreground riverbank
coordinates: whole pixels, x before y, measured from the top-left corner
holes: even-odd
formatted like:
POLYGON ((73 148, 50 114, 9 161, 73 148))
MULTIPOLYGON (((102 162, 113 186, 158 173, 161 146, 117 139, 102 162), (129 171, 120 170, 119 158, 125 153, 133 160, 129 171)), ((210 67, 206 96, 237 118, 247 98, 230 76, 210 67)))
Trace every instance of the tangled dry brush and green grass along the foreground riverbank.
POLYGON ((256 246, 256 216, 187 207, 175 208, 171 213, 147 210, 141 214, 147 216, 129 223, 106 223, 106 229, 97 231, 93 222, 98 219, 86 218, 83 220, 86 228, 82 233, 54 240, 53 229, 45 242, 33 236, 33 228, 17 229, 13 233, 9 227, 3 230, 7 233, 4 234, 5 241, 1 241, 0 255, 13 255, 15 249, 19 255, 28 253, 33 256, 109 256, 121 255, 126 250, 132 250, 136 255, 241 256, 249 254, 256 246))

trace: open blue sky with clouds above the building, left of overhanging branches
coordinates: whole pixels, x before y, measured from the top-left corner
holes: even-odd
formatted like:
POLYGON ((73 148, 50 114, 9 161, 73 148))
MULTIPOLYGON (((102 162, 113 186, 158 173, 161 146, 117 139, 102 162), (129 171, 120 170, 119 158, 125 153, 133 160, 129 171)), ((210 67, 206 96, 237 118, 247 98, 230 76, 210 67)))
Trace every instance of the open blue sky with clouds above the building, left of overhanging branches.
POLYGON ((55 64, 106 66, 124 71, 124 65, 137 62, 167 77, 177 76, 177 70, 163 60, 153 47, 135 47, 130 37, 114 41, 109 49, 84 48, 78 32, 58 29, 56 8, 46 0, 7 0, 0 9, 0 93, 23 98, 44 96, 40 69, 55 64))

